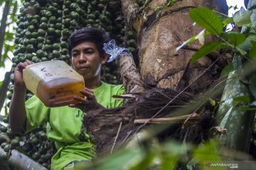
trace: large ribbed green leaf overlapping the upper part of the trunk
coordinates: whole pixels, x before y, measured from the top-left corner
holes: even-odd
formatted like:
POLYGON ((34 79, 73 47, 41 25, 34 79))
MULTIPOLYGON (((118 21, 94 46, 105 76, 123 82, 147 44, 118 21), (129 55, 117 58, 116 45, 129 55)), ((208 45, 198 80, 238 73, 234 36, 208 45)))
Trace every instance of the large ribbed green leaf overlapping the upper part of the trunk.
POLYGON ((220 35, 223 25, 220 17, 208 8, 194 8, 189 11, 190 18, 210 33, 220 35))

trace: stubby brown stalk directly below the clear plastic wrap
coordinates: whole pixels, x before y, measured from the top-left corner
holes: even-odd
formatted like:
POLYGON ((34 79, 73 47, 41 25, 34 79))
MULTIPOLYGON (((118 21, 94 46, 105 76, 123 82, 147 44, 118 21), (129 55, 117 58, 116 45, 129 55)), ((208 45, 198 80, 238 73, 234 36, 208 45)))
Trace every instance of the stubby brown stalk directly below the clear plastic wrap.
POLYGON ((134 63, 132 54, 122 55, 117 64, 127 93, 140 93, 145 91, 142 77, 134 63))

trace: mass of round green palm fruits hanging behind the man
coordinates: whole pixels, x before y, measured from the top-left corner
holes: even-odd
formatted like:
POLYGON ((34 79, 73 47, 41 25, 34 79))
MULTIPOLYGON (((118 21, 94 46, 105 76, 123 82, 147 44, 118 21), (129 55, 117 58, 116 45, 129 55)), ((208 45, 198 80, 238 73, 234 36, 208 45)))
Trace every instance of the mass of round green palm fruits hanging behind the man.
MULTIPOLYGON (((127 47, 136 58, 136 40, 125 26, 121 6, 112 8, 107 0, 24 0, 18 15, 16 48, 12 59, 12 71, 19 62, 31 60, 64 60, 70 64, 68 37, 74 30, 94 27, 106 30, 117 45, 127 47)), ((102 81, 119 84, 119 73, 114 62, 102 67, 102 81)), ((14 74, 7 97, 11 100, 14 91, 14 74)), ((26 99, 33 96, 29 91, 26 99)), ((9 106, 10 103, 7 105, 9 106)), ((38 113, 39 114, 39 113, 38 113)), ((1 121, 0 121, 1 123, 1 121)), ((11 134, 8 117, 0 125, 0 145, 9 154, 16 148, 38 163, 50 167, 50 158, 55 152, 53 142, 47 140, 46 125, 28 135, 11 134), (7 140, 6 140, 7 139, 7 140)))

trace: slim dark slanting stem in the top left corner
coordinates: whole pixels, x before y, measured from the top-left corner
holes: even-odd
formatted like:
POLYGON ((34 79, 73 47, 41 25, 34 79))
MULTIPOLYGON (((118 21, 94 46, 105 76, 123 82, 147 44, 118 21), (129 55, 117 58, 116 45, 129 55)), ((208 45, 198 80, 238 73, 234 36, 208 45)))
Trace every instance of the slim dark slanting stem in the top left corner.
POLYGON ((1 62, 1 52, 4 47, 4 35, 5 35, 6 21, 7 21, 9 10, 10 10, 10 1, 6 1, 4 5, 4 12, 1 18, 1 26, 0 26, 0 62, 1 62))

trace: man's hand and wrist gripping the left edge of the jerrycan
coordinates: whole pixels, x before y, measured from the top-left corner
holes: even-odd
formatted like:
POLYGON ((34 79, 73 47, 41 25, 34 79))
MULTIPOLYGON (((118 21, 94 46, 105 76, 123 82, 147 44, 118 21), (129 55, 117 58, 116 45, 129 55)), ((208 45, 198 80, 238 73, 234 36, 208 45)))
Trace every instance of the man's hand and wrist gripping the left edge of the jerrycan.
POLYGON ((20 62, 16 66, 14 70, 14 87, 16 89, 26 90, 25 82, 23 81, 23 69, 25 69, 28 65, 33 64, 31 61, 20 62))

